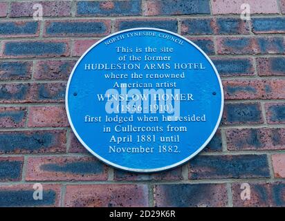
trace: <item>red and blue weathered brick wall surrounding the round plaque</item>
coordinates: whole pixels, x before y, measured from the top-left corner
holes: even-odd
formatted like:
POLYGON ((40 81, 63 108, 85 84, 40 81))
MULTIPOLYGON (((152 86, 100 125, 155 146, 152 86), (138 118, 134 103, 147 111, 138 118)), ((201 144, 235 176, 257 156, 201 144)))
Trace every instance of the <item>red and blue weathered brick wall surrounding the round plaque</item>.
POLYGON ((0 20, 0 206, 285 206, 285 0, 1 1, 0 20), (244 2, 250 21, 239 17, 244 2), (42 21, 33 20, 35 3, 42 21), (205 50, 226 98, 202 153, 146 175, 87 153, 64 110, 84 50, 144 26, 205 50), (37 182, 43 200, 33 200, 37 182), (250 200, 241 200, 243 183, 250 200))

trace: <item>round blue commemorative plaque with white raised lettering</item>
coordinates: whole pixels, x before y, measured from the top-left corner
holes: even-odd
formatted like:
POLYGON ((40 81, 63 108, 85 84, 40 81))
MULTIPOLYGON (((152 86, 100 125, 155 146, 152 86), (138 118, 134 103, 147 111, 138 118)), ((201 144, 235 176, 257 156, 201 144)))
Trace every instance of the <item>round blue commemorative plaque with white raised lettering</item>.
POLYGON ((69 123, 93 155, 154 172, 187 162, 210 142, 223 112, 214 64, 167 30, 134 28, 91 46, 66 88, 69 123))

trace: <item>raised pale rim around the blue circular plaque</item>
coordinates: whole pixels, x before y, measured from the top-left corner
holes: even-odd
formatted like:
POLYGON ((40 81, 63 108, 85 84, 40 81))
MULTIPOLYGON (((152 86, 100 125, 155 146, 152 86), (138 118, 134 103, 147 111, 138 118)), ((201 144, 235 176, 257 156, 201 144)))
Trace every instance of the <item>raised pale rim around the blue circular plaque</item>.
POLYGON ((71 75, 68 77, 68 82, 67 82, 67 85, 66 85, 66 94, 65 94, 65 107, 66 107, 66 114, 67 114, 67 117, 68 117, 68 122, 69 124, 71 125, 71 129, 73 131, 73 133, 75 134, 75 136, 77 137, 77 139, 80 141, 80 143, 90 152, 92 153, 92 155, 94 155, 95 157, 97 157, 100 161, 104 162, 105 164, 108 164, 109 166, 112 166, 116 169, 121 169, 123 171, 131 171, 131 172, 136 172, 136 173, 154 173, 154 172, 160 172, 160 171, 166 171, 166 170, 169 170, 169 169, 173 169, 174 167, 176 166, 181 166, 182 164, 185 164, 186 162, 188 162, 189 160, 191 160, 193 157, 195 157, 198 153, 200 153, 203 148, 205 148, 205 146, 207 146, 207 144, 210 142, 210 140, 212 140, 212 137, 214 137, 214 134, 216 133, 218 127, 219 127, 219 124, 221 122, 221 117, 223 115, 223 106, 224 106, 224 95, 223 95, 223 85, 221 83, 221 78, 219 76, 219 73, 217 71, 217 68, 214 66, 212 60, 210 59, 210 57, 208 57, 208 55, 206 55, 205 52, 203 52, 203 50, 201 50, 201 48, 199 48, 199 46, 197 46, 196 44, 194 44, 192 41, 190 41, 189 39, 181 36, 181 35, 178 35, 177 33, 175 32, 171 32, 169 30, 163 30, 163 29, 160 29, 160 28, 129 28, 129 29, 125 29, 125 30, 121 30, 119 32, 115 32, 111 35, 108 35, 107 37, 104 37, 102 39, 100 39, 99 41, 96 41, 95 44, 93 44, 91 47, 89 47, 85 52, 84 54, 80 57, 80 59, 78 59, 78 61, 76 62, 75 66, 73 67, 73 70, 71 71, 71 75), (179 162, 176 162, 175 164, 172 164, 172 165, 169 165, 169 166, 164 166, 164 167, 159 167, 159 168, 156 168, 156 169, 134 169, 134 168, 129 168, 129 167, 126 167, 126 166, 120 166, 118 164, 114 164, 112 162, 109 162, 109 160, 106 160, 104 159, 103 157, 101 157, 100 155, 98 155, 97 153, 95 153, 95 151, 93 151, 91 148, 89 148, 89 146, 87 146, 84 141, 81 139, 80 135, 77 134, 77 131, 75 130, 74 126, 73 126, 73 123, 72 123, 72 120, 71 120, 71 116, 69 114, 69 109, 68 109, 68 89, 69 89, 69 84, 71 83, 71 79, 73 77, 73 73, 75 71, 75 69, 77 68, 77 65, 80 64, 80 61, 83 59, 83 57, 92 49, 94 48, 95 46, 97 46, 98 44, 100 44, 102 41, 106 40, 106 39, 109 39, 110 37, 114 36, 114 35, 118 35, 118 34, 121 34, 121 33, 124 33, 124 32, 129 32, 129 31, 134 31, 134 30, 156 30, 156 31, 160 31, 160 32, 166 32, 168 34, 171 34, 171 35, 175 35, 176 37, 179 37, 181 39, 183 39, 184 41, 187 41, 189 44, 192 44, 192 46, 194 46, 196 49, 198 49, 202 55, 205 56, 205 58, 210 62, 212 68, 214 69, 214 73, 216 74, 217 76, 217 79, 219 81, 219 86, 221 88, 221 108, 220 108, 220 114, 219 114, 219 118, 218 118, 218 121, 217 121, 217 124, 216 126, 214 127, 211 135, 208 137, 208 139, 204 142, 203 145, 200 146, 200 148, 198 148, 194 153, 192 153, 190 156, 186 157, 184 160, 181 160, 179 162))

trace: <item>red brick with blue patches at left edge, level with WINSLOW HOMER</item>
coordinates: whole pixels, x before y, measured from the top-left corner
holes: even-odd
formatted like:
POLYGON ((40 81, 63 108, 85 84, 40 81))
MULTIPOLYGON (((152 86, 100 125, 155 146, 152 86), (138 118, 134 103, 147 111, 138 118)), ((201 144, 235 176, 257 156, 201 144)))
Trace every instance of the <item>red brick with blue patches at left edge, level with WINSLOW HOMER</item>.
POLYGON ((65 83, 0 84, 0 102, 64 102, 65 83))

